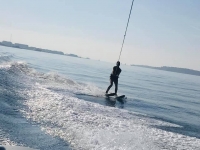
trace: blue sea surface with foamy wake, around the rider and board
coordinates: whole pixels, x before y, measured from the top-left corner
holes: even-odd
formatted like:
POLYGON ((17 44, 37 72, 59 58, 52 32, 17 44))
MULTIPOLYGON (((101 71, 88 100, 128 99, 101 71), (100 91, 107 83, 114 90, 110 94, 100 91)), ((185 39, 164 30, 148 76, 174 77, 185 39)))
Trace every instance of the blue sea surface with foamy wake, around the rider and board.
POLYGON ((0 47, 0 145, 41 150, 200 150, 200 77, 0 47), (110 92, 114 91, 114 85, 110 92))

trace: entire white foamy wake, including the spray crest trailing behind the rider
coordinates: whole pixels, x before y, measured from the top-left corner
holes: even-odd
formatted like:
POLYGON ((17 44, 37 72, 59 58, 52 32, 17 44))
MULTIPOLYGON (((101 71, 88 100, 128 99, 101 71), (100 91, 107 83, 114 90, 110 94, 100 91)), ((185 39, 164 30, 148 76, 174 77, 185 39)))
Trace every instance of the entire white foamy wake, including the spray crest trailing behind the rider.
POLYGON ((21 101, 24 107, 19 107, 21 113, 37 122, 47 134, 69 142, 73 149, 194 150, 200 147, 198 138, 156 128, 181 126, 76 97, 77 93, 102 95, 103 90, 95 85, 56 73, 37 72, 23 62, 4 62, 0 69, 12 82, 23 82, 20 89, 15 89, 24 98, 21 101))

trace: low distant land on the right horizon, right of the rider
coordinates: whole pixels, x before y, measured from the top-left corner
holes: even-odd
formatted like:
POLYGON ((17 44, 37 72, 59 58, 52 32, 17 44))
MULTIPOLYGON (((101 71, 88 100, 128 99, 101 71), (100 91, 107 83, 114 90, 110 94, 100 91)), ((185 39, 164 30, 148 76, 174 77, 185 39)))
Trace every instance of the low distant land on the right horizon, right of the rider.
POLYGON ((143 68, 151 68, 151 69, 157 69, 157 70, 164 70, 164 71, 170 71, 170 72, 177 72, 177 73, 184 73, 184 74, 190 74, 190 75, 196 75, 200 76, 200 71, 187 69, 187 68, 176 68, 176 67, 152 67, 152 66, 146 66, 146 65, 131 65, 136 67, 143 67, 143 68))

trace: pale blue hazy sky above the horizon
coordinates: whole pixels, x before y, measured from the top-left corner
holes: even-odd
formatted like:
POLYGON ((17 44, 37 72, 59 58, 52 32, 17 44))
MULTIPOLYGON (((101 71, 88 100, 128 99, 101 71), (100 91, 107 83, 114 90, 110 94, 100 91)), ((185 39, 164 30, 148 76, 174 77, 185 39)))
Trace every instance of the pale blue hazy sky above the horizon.
MULTIPOLYGON (((132 0, 0 0, 0 41, 115 63, 132 0)), ((200 70, 200 1, 135 0, 120 61, 200 70)))

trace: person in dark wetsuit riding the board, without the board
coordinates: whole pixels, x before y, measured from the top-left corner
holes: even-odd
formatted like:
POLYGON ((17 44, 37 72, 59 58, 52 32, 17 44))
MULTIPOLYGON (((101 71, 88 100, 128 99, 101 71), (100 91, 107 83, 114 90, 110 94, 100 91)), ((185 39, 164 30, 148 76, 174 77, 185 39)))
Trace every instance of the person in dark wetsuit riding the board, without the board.
POLYGON ((117 61, 116 66, 113 67, 113 71, 110 75, 110 85, 108 86, 107 90, 106 90, 106 94, 108 94, 108 91, 110 90, 110 88, 113 85, 113 82, 115 84, 115 95, 117 95, 117 90, 118 90, 118 78, 119 78, 119 74, 121 73, 121 69, 119 68, 120 66, 120 62, 117 61))

